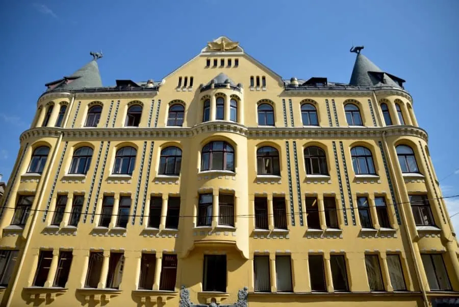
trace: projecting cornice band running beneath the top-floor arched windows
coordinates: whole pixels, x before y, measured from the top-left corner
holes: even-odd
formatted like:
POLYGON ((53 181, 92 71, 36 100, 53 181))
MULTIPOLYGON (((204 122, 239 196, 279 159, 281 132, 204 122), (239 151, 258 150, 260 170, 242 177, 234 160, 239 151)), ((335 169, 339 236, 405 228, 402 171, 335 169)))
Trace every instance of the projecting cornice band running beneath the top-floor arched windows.
POLYGON ((336 138, 360 138, 382 137, 386 131, 387 136, 416 136, 427 142, 427 132, 413 126, 390 126, 390 127, 245 127, 238 123, 208 122, 190 128, 57 128, 40 127, 24 131, 20 135, 21 143, 35 137, 58 137, 63 134, 66 138, 186 138, 199 133, 235 133, 249 138, 296 138, 296 137, 336 137, 336 138))

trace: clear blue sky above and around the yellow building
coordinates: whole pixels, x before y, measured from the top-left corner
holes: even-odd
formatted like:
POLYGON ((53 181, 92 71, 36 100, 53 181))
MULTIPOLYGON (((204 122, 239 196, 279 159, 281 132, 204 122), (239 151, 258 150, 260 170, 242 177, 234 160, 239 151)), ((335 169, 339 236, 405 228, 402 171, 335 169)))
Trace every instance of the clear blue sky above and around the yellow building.
MULTIPOLYGON (((449 176, 443 192, 459 194, 459 1, 18 0, 2 7, 4 180, 44 84, 72 74, 90 51, 104 53, 104 85, 161 80, 207 41, 226 35, 285 79, 349 82, 355 58, 349 48, 365 45, 370 60, 407 81, 438 177, 449 176)), ((459 199, 449 206, 459 211, 459 199)))

